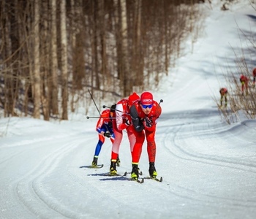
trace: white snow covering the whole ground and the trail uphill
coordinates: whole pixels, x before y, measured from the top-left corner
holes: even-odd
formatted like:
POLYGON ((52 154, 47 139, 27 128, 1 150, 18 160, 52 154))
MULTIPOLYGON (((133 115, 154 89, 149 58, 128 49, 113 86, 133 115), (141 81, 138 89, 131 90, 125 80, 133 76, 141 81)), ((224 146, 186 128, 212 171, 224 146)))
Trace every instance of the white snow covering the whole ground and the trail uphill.
MULTIPOLYGON (((256 121, 227 125, 213 99, 227 86, 225 67, 240 74, 234 48, 252 47, 241 30, 255 34, 255 9, 244 2, 223 12, 218 2, 206 7, 193 53, 188 39, 186 55, 151 91, 163 99, 156 134, 162 183, 105 176, 109 139, 99 154, 103 168, 89 169, 97 119, 1 118, 0 218, 255 218, 256 121)), ((94 110, 90 116, 97 115, 94 110)), ((118 173, 130 172, 126 133, 119 155, 118 173)), ((146 142, 139 166, 147 177, 146 142)))

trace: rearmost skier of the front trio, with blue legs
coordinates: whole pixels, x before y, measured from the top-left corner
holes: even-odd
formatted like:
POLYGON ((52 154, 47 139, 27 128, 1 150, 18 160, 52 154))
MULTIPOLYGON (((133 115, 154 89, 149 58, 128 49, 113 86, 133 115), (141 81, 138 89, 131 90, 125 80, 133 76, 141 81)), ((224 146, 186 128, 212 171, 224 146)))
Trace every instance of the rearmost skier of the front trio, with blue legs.
POLYGON ((110 138, 110 141, 114 142, 115 134, 113 133, 113 117, 114 115, 113 110, 103 110, 102 114, 99 117, 99 120, 97 122, 96 131, 98 132, 99 141, 95 148, 94 153, 94 160, 92 161, 92 166, 97 166, 98 157, 100 150, 102 149, 102 145, 105 142, 105 137, 110 138))

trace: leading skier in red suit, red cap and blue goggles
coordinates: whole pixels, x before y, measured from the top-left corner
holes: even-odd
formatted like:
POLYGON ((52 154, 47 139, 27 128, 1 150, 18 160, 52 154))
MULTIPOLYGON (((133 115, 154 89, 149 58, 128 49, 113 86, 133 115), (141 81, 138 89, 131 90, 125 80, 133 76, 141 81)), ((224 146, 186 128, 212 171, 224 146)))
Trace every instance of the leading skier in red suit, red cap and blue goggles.
POLYGON ((140 96, 140 101, 132 104, 130 115, 132 117, 132 125, 136 137, 135 146, 132 151, 132 174, 131 177, 138 180, 138 164, 142 152, 143 142, 147 141, 148 172, 152 178, 157 177, 157 171, 154 166, 156 158, 156 142, 154 140, 156 134, 157 119, 161 115, 162 108, 153 100, 152 93, 144 92, 140 96))

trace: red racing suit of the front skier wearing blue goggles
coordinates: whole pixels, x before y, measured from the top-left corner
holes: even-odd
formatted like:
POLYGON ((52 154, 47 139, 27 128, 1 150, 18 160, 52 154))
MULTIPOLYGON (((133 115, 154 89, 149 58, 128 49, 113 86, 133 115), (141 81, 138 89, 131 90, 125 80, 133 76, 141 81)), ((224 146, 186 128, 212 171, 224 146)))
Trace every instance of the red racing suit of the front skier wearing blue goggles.
POLYGON ((134 104, 132 104, 130 115, 132 117, 132 131, 134 131, 136 138, 132 151, 132 164, 138 164, 140 161, 145 136, 147 141, 148 161, 155 161, 157 147, 154 136, 157 128, 157 119, 161 113, 162 108, 157 101, 153 101, 153 107, 148 115, 146 115, 141 109, 140 101, 136 101, 134 104))

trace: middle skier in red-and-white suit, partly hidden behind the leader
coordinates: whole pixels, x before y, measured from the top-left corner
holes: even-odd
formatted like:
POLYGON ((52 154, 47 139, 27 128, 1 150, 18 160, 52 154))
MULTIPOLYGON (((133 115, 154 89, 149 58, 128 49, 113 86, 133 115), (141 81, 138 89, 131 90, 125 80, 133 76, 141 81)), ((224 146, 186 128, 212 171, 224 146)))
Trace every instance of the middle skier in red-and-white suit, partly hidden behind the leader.
POLYGON ((116 104, 116 123, 113 123, 115 141, 112 146, 110 174, 117 174, 116 164, 118 161, 119 147, 121 145, 121 140, 123 139, 124 129, 127 131, 131 152, 133 150, 133 146, 135 145, 135 135, 132 131, 132 119, 129 115, 129 109, 130 106, 138 99, 140 99, 140 96, 138 96, 137 93, 132 93, 128 99, 121 99, 116 104))

